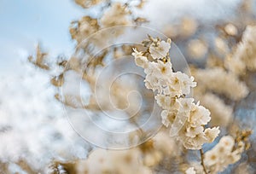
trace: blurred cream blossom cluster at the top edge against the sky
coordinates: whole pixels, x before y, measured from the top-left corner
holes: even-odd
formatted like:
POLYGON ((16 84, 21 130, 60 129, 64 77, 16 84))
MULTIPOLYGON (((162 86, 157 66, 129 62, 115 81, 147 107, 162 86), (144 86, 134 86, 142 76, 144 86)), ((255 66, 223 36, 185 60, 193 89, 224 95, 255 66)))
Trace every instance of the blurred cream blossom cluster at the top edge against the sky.
POLYGON ((107 3, 101 0, 75 0, 75 2, 83 8, 96 4, 102 6, 101 13, 98 13, 96 16, 85 15, 80 20, 74 20, 71 23, 69 32, 78 44, 82 44, 84 39, 90 39, 92 44, 96 44, 97 46, 103 45, 105 44, 105 40, 117 38, 124 32, 125 28, 121 26, 147 21, 143 17, 132 14, 132 9, 140 9, 140 7, 131 5, 130 3, 119 3, 115 1, 109 1, 107 3), (110 27, 113 27, 111 34, 102 31, 110 27))

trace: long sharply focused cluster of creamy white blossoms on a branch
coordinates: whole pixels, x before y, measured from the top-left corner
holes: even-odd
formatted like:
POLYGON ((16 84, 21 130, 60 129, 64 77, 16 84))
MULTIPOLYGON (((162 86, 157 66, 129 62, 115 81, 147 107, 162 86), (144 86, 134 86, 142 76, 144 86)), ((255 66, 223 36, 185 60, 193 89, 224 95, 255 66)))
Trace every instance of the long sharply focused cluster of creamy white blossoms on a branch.
POLYGON ((201 149, 202 144, 212 142, 218 136, 219 130, 218 127, 205 129, 211 119, 209 110, 199 102, 195 103, 194 98, 185 97, 196 86, 194 78, 172 71, 171 39, 165 42, 149 37, 149 41, 143 43, 148 49, 144 52, 134 49, 132 55, 137 66, 144 68, 145 86, 155 92, 155 100, 163 109, 163 125, 171 128, 170 136, 183 142, 185 148, 201 149))

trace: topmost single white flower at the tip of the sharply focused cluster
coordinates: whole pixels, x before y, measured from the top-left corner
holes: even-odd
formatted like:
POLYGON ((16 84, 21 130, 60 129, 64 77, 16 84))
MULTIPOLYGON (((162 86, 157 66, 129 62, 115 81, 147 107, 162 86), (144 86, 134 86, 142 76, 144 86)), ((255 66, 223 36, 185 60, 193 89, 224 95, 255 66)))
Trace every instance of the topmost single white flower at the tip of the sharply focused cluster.
POLYGON ((161 59, 166 57, 169 49, 171 49, 171 44, 166 43, 165 41, 160 41, 155 45, 154 43, 149 46, 149 52, 152 55, 153 59, 161 59))

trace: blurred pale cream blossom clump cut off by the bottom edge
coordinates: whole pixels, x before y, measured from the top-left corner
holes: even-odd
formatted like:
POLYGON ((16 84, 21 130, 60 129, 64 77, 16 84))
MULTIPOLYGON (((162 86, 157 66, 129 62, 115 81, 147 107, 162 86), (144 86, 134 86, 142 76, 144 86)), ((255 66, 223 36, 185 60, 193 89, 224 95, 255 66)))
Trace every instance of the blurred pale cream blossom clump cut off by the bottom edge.
POLYGON ((141 152, 138 148, 122 151, 109 151, 96 149, 89 158, 80 160, 76 165, 77 173, 142 173, 151 174, 152 171, 140 158, 141 152))

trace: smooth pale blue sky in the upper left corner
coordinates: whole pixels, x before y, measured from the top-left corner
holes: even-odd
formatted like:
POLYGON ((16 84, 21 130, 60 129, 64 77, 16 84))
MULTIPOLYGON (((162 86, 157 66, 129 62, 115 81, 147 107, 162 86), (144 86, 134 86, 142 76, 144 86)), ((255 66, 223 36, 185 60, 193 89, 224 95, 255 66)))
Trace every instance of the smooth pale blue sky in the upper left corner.
POLYGON ((0 0, 0 74, 25 61, 38 42, 51 55, 70 54, 68 26, 85 12, 72 0, 0 0))

